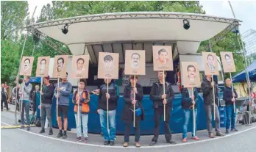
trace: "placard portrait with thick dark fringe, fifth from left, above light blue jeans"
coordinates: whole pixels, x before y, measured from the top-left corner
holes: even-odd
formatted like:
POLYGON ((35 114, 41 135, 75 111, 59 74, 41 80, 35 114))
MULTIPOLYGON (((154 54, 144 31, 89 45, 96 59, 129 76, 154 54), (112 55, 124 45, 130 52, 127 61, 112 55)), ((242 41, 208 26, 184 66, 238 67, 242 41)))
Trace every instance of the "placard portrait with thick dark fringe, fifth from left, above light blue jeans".
POLYGON ((119 54, 99 52, 99 79, 118 79, 119 54))

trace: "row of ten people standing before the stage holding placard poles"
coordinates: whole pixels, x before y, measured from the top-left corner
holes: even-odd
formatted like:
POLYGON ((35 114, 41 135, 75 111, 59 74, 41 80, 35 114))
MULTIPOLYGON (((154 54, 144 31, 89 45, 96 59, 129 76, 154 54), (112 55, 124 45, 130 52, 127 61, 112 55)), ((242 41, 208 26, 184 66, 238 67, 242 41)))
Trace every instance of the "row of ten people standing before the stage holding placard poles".
MULTIPOLYGON (((67 129, 68 129, 68 105, 69 105, 69 96, 71 95, 72 85, 67 82, 68 73, 62 78, 62 82, 57 85, 54 90, 54 87, 49 83, 49 76, 43 77, 43 89, 40 92, 41 95, 41 104, 38 108, 41 110, 41 130, 40 134, 45 133, 45 122, 46 117, 49 121, 49 135, 53 134, 52 131, 52 122, 51 122, 51 105, 53 96, 58 100, 57 108, 57 123, 59 126, 59 132, 57 137, 62 137, 63 139, 67 138, 67 129), (63 116, 63 121, 61 119, 63 116), (63 125, 64 124, 64 125, 63 125), (64 129, 62 128, 64 126, 64 129)), ((159 137, 159 129, 161 118, 165 115, 164 120, 164 132, 166 142, 170 144, 176 144, 171 137, 171 129, 169 120, 171 117, 171 108, 172 101, 174 99, 174 91, 172 90, 171 84, 165 82, 166 72, 158 71, 158 82, 154 82, 151 88, 150 98, 153 101, 154 109, 154 137, 150 142, 150 146, 157 144, 159 137), (164 89, 165 88, 165 89, 164 89), (164 110, 164 105, 166 110, 164 110), (164 113, 166 112, 166 113, 164 113)), ((218 89, 216 83, 213 82, 211 75, 207 75, 206 79, 203 80, 202 94, 205 103, 205 112, 207 116, 207 131, 210 138, 215 136, 224 136, 220 131, 220 116, 218 112, 218 89), (214 91, 213 91, 214 90, 214 91), (213 95, 215 93, 215 95, 213 95), (213 104, 213 101, 215 103, 213 104), (212 127, 212 112, 215 108, 215 121, 216 127, 213 134, 212 127)), ((227 126, 226 134, 230 131, 238 131, 235 129, 235 109, 232 108, 232 105, 235 103, 236 98, 238 97, 235 89, 232 93, 230 79, 226 79, 226 88, 224 89, 224 101, 226 101, 227 108, 227 126), (231 129, 230 129, 231 123, 231 129)), ((20 88, 20 87, 19 87, 20 88)), ((29 106, 28 100, 29 95, 32 89, 32 84, 29 83, 29 76, 26 76, 24 82, 21 84, 21 89, 19 89, 19 94, 21 95, 21 103, 23 104, 21 109, 21 129, 24 129, 24 111, 26 112, 27 120, 27 130, 30 130, 29 127, 29 106)), ((39 90, 39 88, 38 88, 39 90)), ((104 79, 104 84, 99 87, 99 90, 93 91, 94 94, 99 95, 98 108, 97 112, 100 118, 100 125, 102 130, 102 135, 104 137, 104 145, 115 145, 115 114, 119 98, 119 89, 118 85, 112 79, 104 79), (108 83, 108 84, 107 84, 108 83), (107 109, 108 101, 108 109, 107 109), (108 110, 108 114, 107 114, 108 110), (108 115, 108 118, 107 118, 108 115), (109 120, 109 123, 107 123, 109 120), (109 127, 107 126, 109 124, 109 127)), ((138 76, 129 76, 129 84, 124 87, 124 109, 121 115, 121 120, 125 123, 125 132, 124 132, 124 147, 129 146, 129 134, 130 129, 133 126, 134 115, 135 115, 135 146, 137 148, 141 147, 140 135, 141 135, 141 120, 144 119, 144 109, 143 109, 143 88, 141 87, 140 82, 138 82, 138 76), (135 106, 135 112, 134 107, 135 106)), ((77 91, 75 91, 73 99, 74 103, 74 115, 76 117, 77 123, 77 142, 83 141, 88 142, 88 113, 90 112, 90 92, 86 88, 86 79, 79 80, 79 86, 77 91), (82 127, 81 127, 82 126, 82 127), (83 132, 83 137, 82 137, 83 132)), ((182 89, 182 110, 184 113, 184 123, 183 123, 183 132, 182 132, 182 142, 187 142, 187 132, 188 132, 188 122, 195 122, 195 129, 192 131, 192 140, 199 140, 199 137, 196 135, 196 112, 198 105, 198 91, 196 88, 183 88, 182 89), (194 108, 194 109, 193 109, 194 108), (195 112, 195 117, 193 120, 193 111, 195 112)))

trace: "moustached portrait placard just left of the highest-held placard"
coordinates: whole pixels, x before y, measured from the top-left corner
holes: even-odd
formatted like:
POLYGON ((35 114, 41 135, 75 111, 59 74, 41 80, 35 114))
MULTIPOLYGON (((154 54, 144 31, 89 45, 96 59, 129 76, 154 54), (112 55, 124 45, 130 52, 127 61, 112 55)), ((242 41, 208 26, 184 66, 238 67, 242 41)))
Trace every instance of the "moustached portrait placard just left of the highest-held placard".
POLYGON ((126 50, 124 74, 126 75, 145 75, 145 51, 126 50))

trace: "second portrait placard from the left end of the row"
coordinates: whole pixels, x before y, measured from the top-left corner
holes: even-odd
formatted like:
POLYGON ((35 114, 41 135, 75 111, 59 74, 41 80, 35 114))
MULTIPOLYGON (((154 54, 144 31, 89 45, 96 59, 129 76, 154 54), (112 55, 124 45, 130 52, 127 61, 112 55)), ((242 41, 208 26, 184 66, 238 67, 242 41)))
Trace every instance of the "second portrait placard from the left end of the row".
POLYGON ((38 57, 38 66, 36 70, 36 76, 49 75, 49 61, 50 61, 50 57, 38 57))

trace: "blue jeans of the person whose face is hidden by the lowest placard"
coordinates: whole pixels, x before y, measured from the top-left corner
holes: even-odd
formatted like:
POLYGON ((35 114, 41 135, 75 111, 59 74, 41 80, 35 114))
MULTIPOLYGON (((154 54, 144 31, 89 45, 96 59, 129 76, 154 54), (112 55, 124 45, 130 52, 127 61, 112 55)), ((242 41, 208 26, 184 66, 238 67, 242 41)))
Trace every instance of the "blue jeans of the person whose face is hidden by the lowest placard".
POLYGON ((197 114, 197 109, 195 109, 195 134, 193 134, 193 109, 183 109, 184 113, 184 123, 183 123, 183 133, 182 133, 182 138, 187 137, 187 131, 188 131, 188 122, 191 120, 192 124, 192 137, 196 136, 196 114, 197 114), (191 118, 191 119, 190 119, 191 118))

